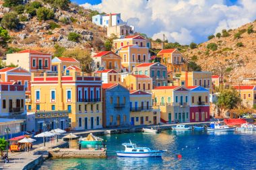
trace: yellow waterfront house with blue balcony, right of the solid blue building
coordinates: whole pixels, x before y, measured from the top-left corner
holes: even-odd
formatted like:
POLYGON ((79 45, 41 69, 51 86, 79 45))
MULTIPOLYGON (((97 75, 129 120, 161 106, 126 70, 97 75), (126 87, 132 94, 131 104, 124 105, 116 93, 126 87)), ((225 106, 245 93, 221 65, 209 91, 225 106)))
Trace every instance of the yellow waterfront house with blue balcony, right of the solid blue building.
POLYGON ((130 93, 131 125, 160 124, 160 110, 152 108, 152 95, 144 91, 130 93))

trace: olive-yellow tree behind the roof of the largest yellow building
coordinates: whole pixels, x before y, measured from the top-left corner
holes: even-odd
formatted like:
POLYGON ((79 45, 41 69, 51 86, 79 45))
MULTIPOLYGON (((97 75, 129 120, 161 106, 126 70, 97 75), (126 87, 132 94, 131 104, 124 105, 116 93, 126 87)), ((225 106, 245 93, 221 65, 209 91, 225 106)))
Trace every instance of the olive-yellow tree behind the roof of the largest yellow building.
POLYGON ((88 50, 79 49, 79 48, 75 48, 74 50, 66 50, 63 53, 63 56, 73 57, 79 60, 82 67, 82 71, 86 73, 92 73, 94 62, 88 50))

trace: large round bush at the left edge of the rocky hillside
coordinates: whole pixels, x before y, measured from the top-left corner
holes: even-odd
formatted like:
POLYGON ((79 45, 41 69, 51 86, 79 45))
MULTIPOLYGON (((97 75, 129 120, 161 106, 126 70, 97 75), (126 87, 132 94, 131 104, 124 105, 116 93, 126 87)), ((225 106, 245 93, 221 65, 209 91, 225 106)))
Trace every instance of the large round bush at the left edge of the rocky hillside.
POLYGON ((19 24, 17 13, 14 13, 14 12, 5 13, 5 15, 3 15, 1 24, 4 28, 7 28, 9 30, 17 28, 17 25, 19 24))

